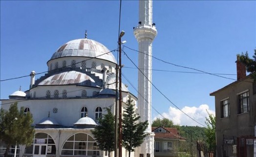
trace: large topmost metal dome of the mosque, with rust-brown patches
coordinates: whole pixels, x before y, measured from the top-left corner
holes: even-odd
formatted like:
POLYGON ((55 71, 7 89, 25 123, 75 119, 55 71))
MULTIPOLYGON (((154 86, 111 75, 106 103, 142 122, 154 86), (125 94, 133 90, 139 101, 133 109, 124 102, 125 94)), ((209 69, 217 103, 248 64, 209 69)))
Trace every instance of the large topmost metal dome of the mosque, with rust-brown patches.
POLYGON ((108 52, 109 50, 106 46, 95 40, 75 39, 68 41, 60 48, 58 48, 58 50, 52 55, 51 59, 56 59, 60 57, 90 57, 105 59, 117 63, 113 54, 111 52, 108 52))

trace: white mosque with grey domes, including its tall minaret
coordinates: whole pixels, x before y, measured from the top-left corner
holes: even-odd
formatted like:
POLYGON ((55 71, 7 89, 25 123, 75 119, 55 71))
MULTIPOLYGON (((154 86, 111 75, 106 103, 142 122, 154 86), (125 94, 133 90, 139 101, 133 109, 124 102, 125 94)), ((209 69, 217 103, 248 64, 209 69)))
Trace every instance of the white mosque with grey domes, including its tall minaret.
MULTIPOLYGON (((151 46, 157 34, 152 24, 152 1, 139 1, 139 24, 134 28, 139 51, 138 98, 122 83, 123 102, 128 97, 138 107, 141 121, 149 120, 149 136, 131 157, 153 157, 154 133, 151 133, 151 46), (143 73, 143 74, 142 74, 143 73), (147 77, 147 79, 145 79, 147 77)), ((117 61, 102 43, 93 39, 74 39, 61 45, 47 61, 48 72, 36 78, 30 74, 27 91, 14 92, 9 99, 1 100, 1 107, 8 110, 18 102, 24 113, 33 115, 35 136, 31 146, 20 145, 17 157, 105 157, 99 150, 91 130, 98 119, 111 107, 115 113, 117 61)), ((122 104, 125 107, 125 103, 122 104)), ((4 148, 4 143, 0 143, 4 148)), ((0 156, 3 155, 3 149, 0 156)), ((10 154, 13 154, 11 148, 10 154)), ((113 157, 113 152, 111 154, 113 157)), ((122 157, 128 157, 123 148, 122 157)))

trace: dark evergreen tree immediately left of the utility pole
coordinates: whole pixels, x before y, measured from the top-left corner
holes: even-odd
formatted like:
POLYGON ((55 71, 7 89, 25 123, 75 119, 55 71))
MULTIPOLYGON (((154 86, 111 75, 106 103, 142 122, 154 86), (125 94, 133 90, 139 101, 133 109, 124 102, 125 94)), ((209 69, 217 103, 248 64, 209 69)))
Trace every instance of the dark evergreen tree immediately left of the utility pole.
POLYGON ((100 125, 96 126, 91 132, 96 138, 100 150, 107 151, 108 157, 110 157, 110 152, 115 150, 115 117, 111 113, 111 107, 105 109, 107 114, 99 119, 100 125))

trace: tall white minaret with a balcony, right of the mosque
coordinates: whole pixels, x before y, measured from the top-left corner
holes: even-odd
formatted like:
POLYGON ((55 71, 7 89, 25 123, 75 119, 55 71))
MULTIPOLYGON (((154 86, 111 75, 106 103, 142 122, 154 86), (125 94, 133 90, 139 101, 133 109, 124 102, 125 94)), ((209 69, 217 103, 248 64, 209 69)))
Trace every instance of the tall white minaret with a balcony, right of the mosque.
POLYGON ((152 0, 139 0, 139 24, 133 33, 139 43, 138 72, 138 112, 141 121, 149 121, 146 130, 149 136, 138 148, 137 157, 154 157, 154 133, 151 132, 151 81, 152 81, 152 41, 157 35, 152 22, 152 0), (142 73, 143 74, 142 74, 142 73))

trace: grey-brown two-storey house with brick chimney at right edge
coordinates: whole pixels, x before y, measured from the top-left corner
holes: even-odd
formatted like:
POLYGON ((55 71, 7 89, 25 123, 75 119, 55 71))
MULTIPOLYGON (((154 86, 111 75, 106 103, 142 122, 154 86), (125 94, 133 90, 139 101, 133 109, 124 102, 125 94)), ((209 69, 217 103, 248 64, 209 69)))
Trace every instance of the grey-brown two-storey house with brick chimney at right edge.
POLYGON ((255 157, 256 83, 238 59, 236 68, 237 80, 210 94, 215 97, 217 157, 255 157))

